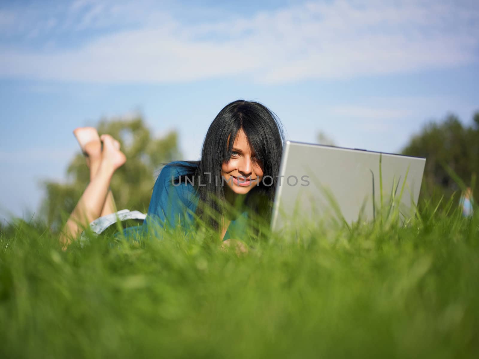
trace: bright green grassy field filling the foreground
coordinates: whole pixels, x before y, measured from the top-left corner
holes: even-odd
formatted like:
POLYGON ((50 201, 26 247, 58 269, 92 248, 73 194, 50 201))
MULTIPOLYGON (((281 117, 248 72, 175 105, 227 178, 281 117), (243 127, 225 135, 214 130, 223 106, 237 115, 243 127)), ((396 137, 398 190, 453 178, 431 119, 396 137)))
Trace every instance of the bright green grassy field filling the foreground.
POLYGON ((62 251, 0 237, 0 358, 477 358, 479 216, 432 213, 238 256, 203 232, 62 251))

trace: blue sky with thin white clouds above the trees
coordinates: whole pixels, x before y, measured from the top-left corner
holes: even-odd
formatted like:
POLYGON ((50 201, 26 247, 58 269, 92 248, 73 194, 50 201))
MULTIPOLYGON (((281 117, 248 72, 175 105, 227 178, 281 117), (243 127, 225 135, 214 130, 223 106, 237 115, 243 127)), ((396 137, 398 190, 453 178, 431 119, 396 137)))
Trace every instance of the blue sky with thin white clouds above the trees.
POLYGON ((468 124, 478 19, 476 0, 2 1, 0 217, 35 212, 72 130, 103 116, 178 130, 186 159, 238 98, 291 140, 384 152, 447 113, 468 124))

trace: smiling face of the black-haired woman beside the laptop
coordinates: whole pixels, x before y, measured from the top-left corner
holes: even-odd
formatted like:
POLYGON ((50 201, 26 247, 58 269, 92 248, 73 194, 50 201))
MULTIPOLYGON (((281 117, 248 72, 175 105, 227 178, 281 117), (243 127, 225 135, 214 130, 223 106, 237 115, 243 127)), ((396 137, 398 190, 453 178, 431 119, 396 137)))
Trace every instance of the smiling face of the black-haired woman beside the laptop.
POLYGON ((250 149, 246 134, 238 131, 233 143, 231 158, 221 166, 221 175, 231 190, 245 195, 258 185, 263 178, 262 163, 250 149))

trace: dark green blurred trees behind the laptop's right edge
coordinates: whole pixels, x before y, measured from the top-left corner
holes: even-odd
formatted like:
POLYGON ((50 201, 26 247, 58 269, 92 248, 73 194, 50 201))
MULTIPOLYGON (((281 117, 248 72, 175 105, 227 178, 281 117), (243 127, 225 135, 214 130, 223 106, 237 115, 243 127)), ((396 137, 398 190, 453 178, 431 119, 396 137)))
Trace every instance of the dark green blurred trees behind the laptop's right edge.
MULTIPOLYGON (((402 150, 403 154, 426 158, 421 196, 451 195, 460 190, 450 168, 466 186, 474 185, 479 173, 479 112, 470 126, 463 126, 454 115, 441 123, 430 122, 414 135, 402 150)), ((478 186, 475 186, 477 192, 478 186)), ((474 189, 473 189, 474 190, 474 189)))

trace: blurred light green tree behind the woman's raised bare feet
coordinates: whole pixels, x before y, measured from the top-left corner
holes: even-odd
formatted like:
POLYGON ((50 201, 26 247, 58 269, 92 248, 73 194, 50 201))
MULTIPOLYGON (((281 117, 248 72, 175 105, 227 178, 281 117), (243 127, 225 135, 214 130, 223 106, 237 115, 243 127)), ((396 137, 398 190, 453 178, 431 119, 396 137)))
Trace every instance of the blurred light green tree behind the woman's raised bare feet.
MULTIPOLYGON (((178 133, 170 131, 161 138, 155 138, 141 115, 127 120, 102 119, 96 128, 98 133, 109 133, 117 139, 127 158, 125 165, 114 174, 110 185, 116 207, 146 212, 162 163, 181 158, 178 133)), ((80 150, 68 165, 67 176, 66 183, 42 183, 46 196, 40 213, 52 230, 61 228, 65 217, 71 213, 90 181, 89 170, 80 150)))

